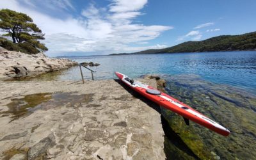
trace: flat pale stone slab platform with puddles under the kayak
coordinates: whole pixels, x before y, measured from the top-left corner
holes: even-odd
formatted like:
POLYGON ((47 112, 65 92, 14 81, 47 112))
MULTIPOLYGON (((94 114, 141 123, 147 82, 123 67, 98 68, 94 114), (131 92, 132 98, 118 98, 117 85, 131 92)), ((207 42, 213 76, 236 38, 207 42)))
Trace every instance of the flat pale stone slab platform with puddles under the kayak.
POLYGON ((0 83, 0 159, 165 159, 159 108, 118 80, 0 83))

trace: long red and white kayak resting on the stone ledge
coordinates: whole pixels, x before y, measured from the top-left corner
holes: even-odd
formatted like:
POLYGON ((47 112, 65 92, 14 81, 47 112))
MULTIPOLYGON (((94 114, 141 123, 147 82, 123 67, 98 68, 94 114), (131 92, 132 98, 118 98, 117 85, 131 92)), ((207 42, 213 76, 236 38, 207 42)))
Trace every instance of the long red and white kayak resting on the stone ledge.
POLYGON ((189 120, 191 120, 223 136, 228 136, 228 134, 230 134, 230 131, 228 131, 228 129, 222 125, 214 122, 207 116, 202 115, 202 113, 199 113, 195 109, 180 102, 179 100, 174 99, 170 95, 160 92, 152 86, 148 86, 147 84, 135 81, 134 79, 131 79, 119 72, 115 72, 115 74, 123 83, 132 88, 132 90, 140 93, 140 95, 143 95, 143 97, 156 102, 156 104, 159 104, 159 106, 163 108, 169 109, 183 116, 186 125, 189 125, 189 120))

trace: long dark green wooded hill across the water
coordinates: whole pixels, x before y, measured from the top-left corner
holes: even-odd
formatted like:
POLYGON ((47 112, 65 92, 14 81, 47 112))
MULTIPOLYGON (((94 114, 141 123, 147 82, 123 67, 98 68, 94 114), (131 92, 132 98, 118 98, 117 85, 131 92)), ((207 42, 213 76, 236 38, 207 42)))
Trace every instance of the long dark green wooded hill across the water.
POLYGON ((252 51, 256 49, 256 31, 243 35, 215 36, 202 41, 188 41, 165 49, 148 49, 140 52, 109 54, 154 54, 174 52, 252 51))

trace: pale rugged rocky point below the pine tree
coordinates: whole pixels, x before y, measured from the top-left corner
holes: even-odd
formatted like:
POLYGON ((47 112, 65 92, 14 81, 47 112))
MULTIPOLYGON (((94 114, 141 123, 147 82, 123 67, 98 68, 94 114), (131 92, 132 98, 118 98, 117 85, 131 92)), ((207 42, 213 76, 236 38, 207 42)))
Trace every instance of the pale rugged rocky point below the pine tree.
POLYGON ((34 77, 78 65, 65 58, 48 58, 44 53, 25 54, 0 47, 0 80, 34 77))

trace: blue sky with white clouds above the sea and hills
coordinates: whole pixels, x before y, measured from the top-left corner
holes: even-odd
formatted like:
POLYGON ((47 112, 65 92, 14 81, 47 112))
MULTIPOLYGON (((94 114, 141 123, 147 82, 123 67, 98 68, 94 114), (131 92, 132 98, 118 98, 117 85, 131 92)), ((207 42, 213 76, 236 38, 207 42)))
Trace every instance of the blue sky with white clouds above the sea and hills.
POLYGON ((162 49, 256 31, 255 0, 0 0, 45 33, 48 56, 162 49))

